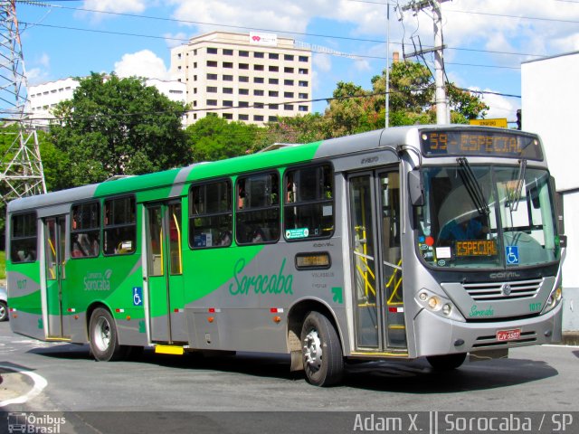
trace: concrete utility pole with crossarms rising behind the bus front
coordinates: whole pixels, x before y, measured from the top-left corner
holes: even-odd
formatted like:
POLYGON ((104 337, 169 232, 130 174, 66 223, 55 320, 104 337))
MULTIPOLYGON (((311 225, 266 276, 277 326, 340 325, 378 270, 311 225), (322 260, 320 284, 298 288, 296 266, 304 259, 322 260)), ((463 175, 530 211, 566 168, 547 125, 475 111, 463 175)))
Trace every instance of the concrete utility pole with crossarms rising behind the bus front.
POLYGON ((436 91, 434 94, 436 103, 436 123, 448 124, 450 120, 449 106, 446 96, 446 88, 444 86, 444 48, 445 45, 442 40, 442 12, 441 3, 449 0, 412 0, 408 5, 403 6, 402 10, 413 10, 418 14, 419 11, 426 7, 432 7, 432 21, 434 23, 434 47, 427 50, 419 50, 405 54, 404 59, 409 57, 420 56, 426 52, 434 52, 434 81, 436 91))

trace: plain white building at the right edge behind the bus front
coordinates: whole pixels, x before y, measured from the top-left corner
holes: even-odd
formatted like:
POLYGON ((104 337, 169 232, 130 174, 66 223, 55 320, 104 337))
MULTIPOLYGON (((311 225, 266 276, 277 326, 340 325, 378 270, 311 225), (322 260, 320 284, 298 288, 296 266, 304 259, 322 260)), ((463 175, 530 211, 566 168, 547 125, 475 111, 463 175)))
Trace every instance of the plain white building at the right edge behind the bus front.
POLYGON ((564 330, 579 330, 579 52, 521 67, 522 129, 538 133, 557 192, 563 195, 567 256, 563 267, 564 330))

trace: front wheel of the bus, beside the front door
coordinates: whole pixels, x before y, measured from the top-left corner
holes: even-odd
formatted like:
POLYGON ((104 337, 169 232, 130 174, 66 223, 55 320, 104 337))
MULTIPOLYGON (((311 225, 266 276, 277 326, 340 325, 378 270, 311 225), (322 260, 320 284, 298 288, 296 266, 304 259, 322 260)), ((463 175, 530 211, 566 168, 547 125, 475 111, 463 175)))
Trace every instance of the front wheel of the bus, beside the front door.
POLYGON ((331 386, 344 375, 342 345, 334 325, 319 312, 309 312, 301 327, 301 354, 310 384, 331 386))

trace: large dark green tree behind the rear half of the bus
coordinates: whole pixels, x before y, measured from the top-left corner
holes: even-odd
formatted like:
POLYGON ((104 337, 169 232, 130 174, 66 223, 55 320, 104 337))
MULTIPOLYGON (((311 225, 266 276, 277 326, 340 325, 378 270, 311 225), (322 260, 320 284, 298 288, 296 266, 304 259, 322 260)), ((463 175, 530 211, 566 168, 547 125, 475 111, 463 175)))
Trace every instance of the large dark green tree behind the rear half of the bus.
POLYGON ((182 128, 184 104, 143 79, 91 73, 77 79, 70 100, 54 109, 50 128, 56 188, 98 183, 113 175, 140 175, 191 163, 182 128), (72 164, 73 163, 73 164, 72 164))

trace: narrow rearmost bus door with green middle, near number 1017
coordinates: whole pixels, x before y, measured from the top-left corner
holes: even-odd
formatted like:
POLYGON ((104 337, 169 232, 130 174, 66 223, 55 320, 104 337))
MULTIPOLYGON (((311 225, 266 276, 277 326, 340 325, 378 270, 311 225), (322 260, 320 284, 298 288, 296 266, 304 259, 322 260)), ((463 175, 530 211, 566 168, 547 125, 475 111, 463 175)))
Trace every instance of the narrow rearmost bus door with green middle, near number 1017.
POLYGON ((68 316, 64 315, 67 306, 65 247, 66 247, 66 216, 59 215, 44 219, 44 258, 46 261, 46 307, 48 309, 49 338, 70 337, 68 316))

